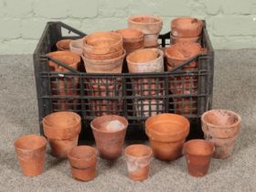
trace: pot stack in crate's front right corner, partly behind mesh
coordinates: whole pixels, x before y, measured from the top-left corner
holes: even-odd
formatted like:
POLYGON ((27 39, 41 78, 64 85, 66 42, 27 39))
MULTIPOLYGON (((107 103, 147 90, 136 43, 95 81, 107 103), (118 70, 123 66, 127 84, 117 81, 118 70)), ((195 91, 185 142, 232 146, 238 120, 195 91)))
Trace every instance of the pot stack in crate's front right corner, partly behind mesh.
MULTIPOLYGON (((165 56, 167 58, 167 69, 178 67, 198 54, 204 53, 205 50, 197 43, 179 42, 165 49, 165 56)), ((197 69, 197 59, 194 59, 179 71, 190 73, 189 75, 174 74, 170 78, 170 91, 173 94, 197 94, 198 78, 197 73, 193 73, 193 69, 197 69), (194 75, 193 75, 194 74, 194 75)), ((197 97, 178 97, 174 98, 175 112, 179 114, 194 114, 197 113, 197 97)))

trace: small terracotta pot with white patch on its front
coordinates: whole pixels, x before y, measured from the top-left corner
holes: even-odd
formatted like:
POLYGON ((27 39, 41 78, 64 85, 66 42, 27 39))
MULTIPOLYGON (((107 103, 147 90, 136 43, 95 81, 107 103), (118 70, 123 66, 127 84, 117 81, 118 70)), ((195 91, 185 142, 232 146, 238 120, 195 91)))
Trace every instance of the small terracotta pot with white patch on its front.
POLYGON ((152 158, 152 149, 144 144, 132 144, 124 150, 128 174, 134 181, 147 178, 152 158))

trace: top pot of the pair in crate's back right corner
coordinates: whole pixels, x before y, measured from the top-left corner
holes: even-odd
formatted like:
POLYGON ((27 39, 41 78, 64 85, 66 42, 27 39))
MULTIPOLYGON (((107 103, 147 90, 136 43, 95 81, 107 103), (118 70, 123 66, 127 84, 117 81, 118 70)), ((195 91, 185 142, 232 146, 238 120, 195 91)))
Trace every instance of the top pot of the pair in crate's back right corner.
POLYGON ((202 28, 203 22, 192 17, 178 17, 171 22, 172 34, 175 37, 198 37, 202 28))

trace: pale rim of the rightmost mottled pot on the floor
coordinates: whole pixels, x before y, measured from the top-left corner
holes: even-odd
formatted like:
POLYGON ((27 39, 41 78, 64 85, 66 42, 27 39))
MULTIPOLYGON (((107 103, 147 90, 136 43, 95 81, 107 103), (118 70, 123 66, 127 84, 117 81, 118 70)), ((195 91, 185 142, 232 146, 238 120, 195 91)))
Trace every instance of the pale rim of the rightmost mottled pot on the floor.
POLYGON ((203 123, 206 123, 206 124, 210 125, 214 129, 223 129, 223 127, 226 127, 225 129, 232 129, 232 127, 237 126, 237 125, 239 125, 241 123, 241 117, 240 117, 240 115, 237 112, 233 112, 233 111, 230 111, 230 110, 224 110, 224 109, 214 109, 214 110, 209 110, 207 112, 204 112, 202 114, 202 116, 201 116, 201 121, 203 123), (208 123, 205 120, 205 117, 206 117, 206 115, 208 115, 209 112, 214 112, 214 111, 229 112, 229 113, 235 115, 238 118, 238 121, 237 121, 237 123, 233 123, 231 125, 217 125, 217 124, 208 123))

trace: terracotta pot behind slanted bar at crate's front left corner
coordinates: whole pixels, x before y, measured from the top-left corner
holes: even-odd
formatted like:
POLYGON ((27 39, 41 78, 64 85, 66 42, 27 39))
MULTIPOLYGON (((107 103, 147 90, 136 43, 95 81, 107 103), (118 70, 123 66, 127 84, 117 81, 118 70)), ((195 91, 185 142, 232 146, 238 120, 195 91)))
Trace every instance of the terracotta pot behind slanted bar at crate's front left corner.
MULTIPOLYGON (((69 67, 73 69, 78 69, 78 66, 80 63, 80 57, 77 54, 72 53, 70 51, 50 52, 47 54, 47 56, 52 57, 53 59, 57 59, 61 62, 64 62, 65 64, 69 65, 69 67)), ((51 60, 48 61, 48 65, 53 71, 69 72, 69 69, 65 69, 51 60)))

